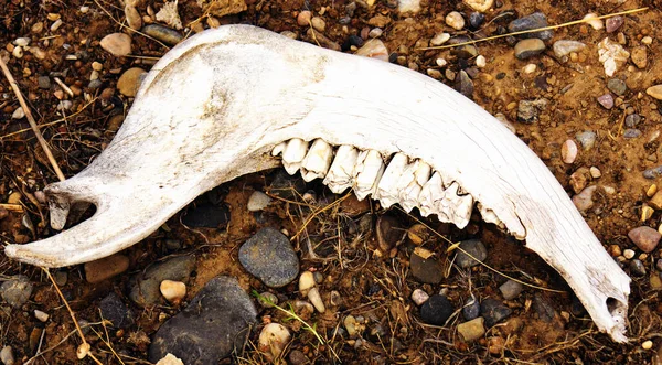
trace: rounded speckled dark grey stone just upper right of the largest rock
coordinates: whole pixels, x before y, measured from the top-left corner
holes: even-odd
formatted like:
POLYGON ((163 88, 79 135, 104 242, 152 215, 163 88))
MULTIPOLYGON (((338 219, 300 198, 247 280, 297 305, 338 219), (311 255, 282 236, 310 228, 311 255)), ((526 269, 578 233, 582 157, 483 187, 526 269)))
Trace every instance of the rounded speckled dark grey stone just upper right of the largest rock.
POLYGON ((239 262, 267 287, 281 288, 299 275, 299 258, 280 230, 258 230, 239 248, 239 262))

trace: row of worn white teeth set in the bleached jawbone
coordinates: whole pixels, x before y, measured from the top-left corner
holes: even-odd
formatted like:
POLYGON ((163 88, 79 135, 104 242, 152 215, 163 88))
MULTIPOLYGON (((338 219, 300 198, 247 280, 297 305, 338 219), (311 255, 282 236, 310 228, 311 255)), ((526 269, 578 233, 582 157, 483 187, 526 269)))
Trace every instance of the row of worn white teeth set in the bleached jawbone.
MULTIPOLYGON (((471 218, 473 196, 419 159, 404 153, 382 155, 375 150, 361 151, 353 146, 333 148, 322 139, 312 143, 291 139, 276 146, 273 155, 282 154, 285 170, 309 182, 323 179, 335 194, 352 187, 359 200, 372 195, 384 208, 399 204, 407 213, 418 207, 423 216, 436 214, 439 221, 465 228, 471 218)), ((496 215, 477 204, 483 219, 503 228, 496 215)))

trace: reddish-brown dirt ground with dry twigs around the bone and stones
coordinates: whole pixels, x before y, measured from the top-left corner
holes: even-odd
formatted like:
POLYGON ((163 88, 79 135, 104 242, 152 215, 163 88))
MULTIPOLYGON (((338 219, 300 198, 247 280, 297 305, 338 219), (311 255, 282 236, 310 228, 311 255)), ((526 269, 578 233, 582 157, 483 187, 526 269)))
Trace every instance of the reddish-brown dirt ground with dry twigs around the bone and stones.
MULTIPOLYGON (((654 212, 641 222, 642 211, 649 201, 647 191, 652 184, 660 183, 644 179, 642 172, 662 164, 662 101, 645 95, 648 87, 662 83, 662 62, 658 61, 658 56, 662 56, 662 36, 659 33, 661 3, 496 0, 494 7, 485 12, 485 22, 476 32, 456 31, 446 25, 444 18, 455 10, 468 20, 472 11, 460 1, 423 0, 421 10, 408 15, 397 11, 394 7, 396 1, 377 0, 372 6, 356 1, 356 10, 346 22, 343 18, 350 3, 350 0, 246 0, 246 11, 212 19, 205 17, 195 1, 185 0, 179 1, 179 14, 184 28, 195 23, 205 29, 217 24, 249 23, 276 32, 290 31, 299 39, 306 39, 308 26, 298 25, 297 15, 310 10, 325 21, 323 34, 343 47, 350 35, 361 35, 375 28, 375 19, 384 22, 380 39, 389 50, 393 61, 404 67, 429 75, 437 74, 428 69, 440 71, 439 82, 451 86, 455 84, 446 77, 447 69, 457 73, 472 68, 476 72, 473 100, 492 115, 503 114, 516 128, 517 136, 549 167, 568 194, 575 195, 570 176, 578 170, 585 175, 584 186, 599 184, 613 187, 613 194, 599 191, 594 195, 594 206, 585 212, 585 218, 615 257, 628 248, 636 250, 637 255, 641 253, 628 238, 628 232, 641 225, 656 229, 662 217, 660 212, 654 212), (556 30, 553 41, 574 40, 588 45, 570 62, 554 54, 552 42, 543 54, 525 61, 514 56, 513 46, 506 39, 479 43, 478 51, 487 60, 487 65, 480 69, 474 66, 473 58, 468 62, 459 60, 451 50, 419 50, 429 45, 428 41, 441 31, 473 39, 485 37, 496 34, 499 28, 508 22, 535 11, 545 13, 549 24, 560 24, 581 19, 589 12, 608 14, 640 7, 651 8, 626 15, 624 24, 612 34, 587 24, 556 30), (613 108, 606 109, 596 101, 598 96, 608 93, 607 82, 610 78, 598 61, 597 44, 606 36, 617 40, 621 36, 618 33, 624 36, 628 50, 643 44, 645 36, 651 37, 652 43, 644 45, 645 67, 640 68, 630 61, 616 74, 616 77, 626 80, 628 90, 613 108), (439 57, 447 60, 448 65, 439 66, 436 62, 439 57), (524 72, 528 64, 535 65, 535 72, 524 72), (537 122, 516 121, 519 101, 543 97, 548 105, 540 112, 537 122), (633 112, 642 118, 637 126, 641 137, 627 139, 623 137, 623 121, 627 115, 633 112), (595 147, 588 151, 580 149, 574 163, 564 163, 562 144, 584 131, 596 132, 595 147), (601 176, 588 175, 586 172, 591 167, 599 169, 601 176)), ((158 11, 163 1, 139 1, 136 9, 141 15, 148 15, 148 7, 158 11)), ((9 69, 38 124, 43 126, 41 131, 66 176, 84 169, 110 142, 130 108, 132 98, 115 89, 120 75, 131 67, 149 71, 156 60, 168 51, 168 47, 140 34, 131 35, 130 56, 117 57, 104 51, 99 41, 107 34, 121 32, 124 22, 124 7, 118 1, 7 0, 0 7, 0 45, 7 51, 0 55, 8 56, 9 69), (88 10, 82 12, 82 7, 88 10), (62 25, 53 31, 51 26, 57 19, 62 20, 62 25), (44 53, 38 56, 34 52, 25 52, 20 58, 11 55, 12 42, 22 36, 31 37, 32 44, 39 45, 44 53), (102 86, 96 88, 89 87, 93 62, 103 64, 99 72, 102 86), (50 76, 52 85, 40 87, 40 76, 50 76), (55 77, 70 87, 72 95, 63 93, 54 82, 55 77), (60 110, 61 100, 72 101, 71 108, 60 110)), ((180 33, 185 34, 186 31, 180 33)), ((50 228, 47 205, 40 203, 40 196, 44 186, 57 181, 57 178, 26 119, 12 118, 18 107, 9 83, 0 78, 0 203, 8 211, 7 217, 0 219, 3 246, 55 234, 50 228)), ((300 323, 288 322, 293 332, 285 355, 288 363, 296 363, 287 357, 287 353, 296 350, 314 364, 662 364, 662 301, 658 291, 662 286, 655 288, 651 285, 651 277, 659 276, 655 268, 656 260, 661 258, 659 249, 639 257, 647 273, 632 276, 628 314, 630 343, 617 344, 599 333, 588 314, 574 305, 576 299, 572 290, 553 269, 521 243, 493 225, 482 223, 478 212, 469 227, 459 230, 451 225, 421 219, 416 214, 407 215, 397 208, 385 212, 375 202, 359 203, 352 197, 322 210, 339 196, 324 190, 320 183, 310 183, 302 190, 309 191, 312 200, 305 201, 301 195, 293 195, 288 200, 276 200, 265 212, 247 212, 250 194, 254 191, 269 192, 275 176, 275 171, 267 171, 217 187, 213 193, 214 200, 227 205, 232 213, 224 228, 190 229, 182 225, 178 214, 164 227, 124 253, 129 258, 129 267, 118 276, 89 283, 82 265, 58 271, 61 277, 66 277, 60 289, 76 318, 92 323, 86 339, 102 363, 147 364, 149 337, 217 275, 236 277, 247 291, 267 291, 264 283, 239 265, 238 247, 259 227, 278 226, 295 234, 302 229, 308 218, 313 217, 300 237, 312 243, 317 257, 309 255, 307 239, 293 240, 301 269, 321 272, 324 277, 322 296, 329 300, 331 290, 335 290, 341 303, 334 311, 324 314, 301 314, 306 321, 316 324, 324 344, 319 344, 312 331, 301 329, 300 323), (445 278, 441 285, 420 283, 412 277, 409 258, 416 245, 408 238, 387 253, 380 249, 375 223, 383 215, 396 217, 403 233, 424 222, 440 234, 428 233, 424 246, 437 253, 442 262, 445 278), (489 329, 480 340, 470 343, 463 342, 457 334, 460 318, 444 328, 427 325, 421 322, 418 307, 410 299, 414 289, 424 289, 430 294, 442 290, 456 308, 461 308, 470 293, 478 298, 500 298, 499 286, 505 281, 504 277, 482 266, 470 270, 453 268, 453 254, 447 254, 448 245, 441 237, 451 241, 480 238, 488 247, 487 265, 562 293, 526 288, 515 299, 505 301, 513 314, 504 324, 489 329), (174 253, 167 247, 169 240, 180 243, 174 253), (126 290, 131 276, 168 255, 182 253, 194 253, 196 257, 196 269, 188 282, 184 302, 180 307, 135 307, 126 290), (110 292, 117 293, 135 310, 135 324, 121 330, 100 324, 98 303, 110 292), (541 300, 556 313, 553 321, 542 320, 532 305, 541 300), (342 321, 349 314, 364 316, 369 323, 359 343, 356 339, 337 335, 335 330, 343 326, 342 321), (371 332, 376 324, 383 333, 371 332), (651 348, 642 347, 647 341, 652 341, 651 348)), ((196 202, 209 200, 211 197, 206 194, 196 202)), ((623 266, 629 273, 628 262, 623 266)), ((12 346, 15 364, 94 364, 89 357, 83 361, 76 358, 81 339, 56 288, 44 272, 9 260, 3 255, 0 255, 0 270, 2 280, 22 273, 34 286, 25 304, 12 308, 4 301, 0 303, 0 347, 12 346), (41 322, 35 319, 35 309, 47 313, 49 320, 41 322)), ((299 299, 297 290, 296 281, 278 290, 270 289, 282 301, 299 299)), ((286 321, 285 315, 275 309, 259 308, 259 311, 260 322, 286 321)), ((243 355, 235 355, 227 362, 267 363, 255 351, 258 334, 257 330, 252 333, 243 355)))

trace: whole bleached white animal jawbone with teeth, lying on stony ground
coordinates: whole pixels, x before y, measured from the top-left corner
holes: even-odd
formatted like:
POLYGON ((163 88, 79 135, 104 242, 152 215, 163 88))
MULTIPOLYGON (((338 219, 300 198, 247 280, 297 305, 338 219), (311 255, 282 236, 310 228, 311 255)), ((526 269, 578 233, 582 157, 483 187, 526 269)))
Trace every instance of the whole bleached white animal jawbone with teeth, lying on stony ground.
POLYGON ((516 136, 435 79, 248 25, 166 54, 108 148, 46 187, 54 228, 77 205, 95 215, 6 254, 44 267, 98 259, 210 189, 278 165, 458 227, 477 204, 564 277, 601 331, 627 341, 630 278, 516 136))

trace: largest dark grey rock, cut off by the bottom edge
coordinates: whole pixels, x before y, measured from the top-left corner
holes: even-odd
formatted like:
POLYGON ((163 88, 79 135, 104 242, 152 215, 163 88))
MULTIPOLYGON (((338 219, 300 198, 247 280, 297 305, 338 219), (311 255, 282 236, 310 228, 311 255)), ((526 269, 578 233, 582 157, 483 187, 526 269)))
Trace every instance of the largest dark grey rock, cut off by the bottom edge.
POLYGON ((153 335, 149 361, 171 353, 186 365, 217 364, 243 348, 256 323, 255 304, 237 279, 216 277, 153 335), (182 335, 185 334, 185 335, 182 335))

